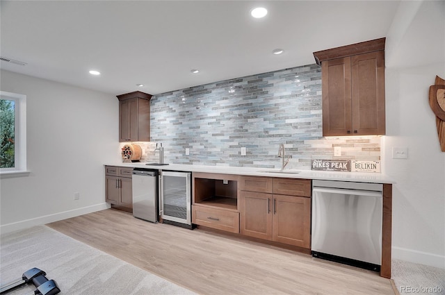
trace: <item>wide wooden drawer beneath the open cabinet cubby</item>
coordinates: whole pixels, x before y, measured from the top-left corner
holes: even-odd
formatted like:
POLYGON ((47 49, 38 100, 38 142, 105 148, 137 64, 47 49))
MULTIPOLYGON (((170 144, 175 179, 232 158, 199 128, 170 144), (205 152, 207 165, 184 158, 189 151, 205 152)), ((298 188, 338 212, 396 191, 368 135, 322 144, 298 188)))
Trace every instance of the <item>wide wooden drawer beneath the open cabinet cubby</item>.
POLYGON ((192 206, 192 223, 230 233, 239 233, 239 213, 201 206, 192 206))

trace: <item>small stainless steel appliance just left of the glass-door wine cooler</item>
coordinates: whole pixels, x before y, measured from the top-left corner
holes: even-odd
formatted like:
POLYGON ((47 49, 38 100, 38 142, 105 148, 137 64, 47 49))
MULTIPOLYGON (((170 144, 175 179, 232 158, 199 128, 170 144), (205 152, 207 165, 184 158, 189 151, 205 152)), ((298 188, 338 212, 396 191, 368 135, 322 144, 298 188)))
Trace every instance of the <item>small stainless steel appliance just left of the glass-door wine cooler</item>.
POLYGON ((158 175, 152 169, 133 169, 133 216, 158 222, 158 175))

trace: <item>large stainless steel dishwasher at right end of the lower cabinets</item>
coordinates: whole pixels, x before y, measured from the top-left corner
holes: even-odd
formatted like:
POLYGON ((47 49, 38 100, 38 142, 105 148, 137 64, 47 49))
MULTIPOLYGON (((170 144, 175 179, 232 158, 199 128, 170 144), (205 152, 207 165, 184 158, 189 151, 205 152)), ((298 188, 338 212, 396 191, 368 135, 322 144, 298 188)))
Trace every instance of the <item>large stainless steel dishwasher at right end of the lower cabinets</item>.
POLYGON ((377 183, 313 180, 312 255, 380 271, 382 188, 377 183))

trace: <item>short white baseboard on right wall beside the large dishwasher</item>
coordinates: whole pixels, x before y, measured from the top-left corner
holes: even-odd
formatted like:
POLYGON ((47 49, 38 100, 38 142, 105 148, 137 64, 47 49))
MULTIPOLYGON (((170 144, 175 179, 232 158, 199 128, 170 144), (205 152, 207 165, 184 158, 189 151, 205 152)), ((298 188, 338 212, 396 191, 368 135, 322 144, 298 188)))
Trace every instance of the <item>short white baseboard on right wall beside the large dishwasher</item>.
POLYGON ((392 247, 392 258, 445 269, 445 256, 407 248, 392 247))

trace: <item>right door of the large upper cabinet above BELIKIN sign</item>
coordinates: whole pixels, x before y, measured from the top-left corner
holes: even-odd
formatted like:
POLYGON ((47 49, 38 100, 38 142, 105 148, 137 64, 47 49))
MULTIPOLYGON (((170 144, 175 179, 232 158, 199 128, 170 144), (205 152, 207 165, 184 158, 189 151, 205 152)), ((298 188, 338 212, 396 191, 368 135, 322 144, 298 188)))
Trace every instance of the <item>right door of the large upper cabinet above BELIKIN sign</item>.
POLYGON ((353 135, 385 134, 385 53, 351 57, 353 135))

